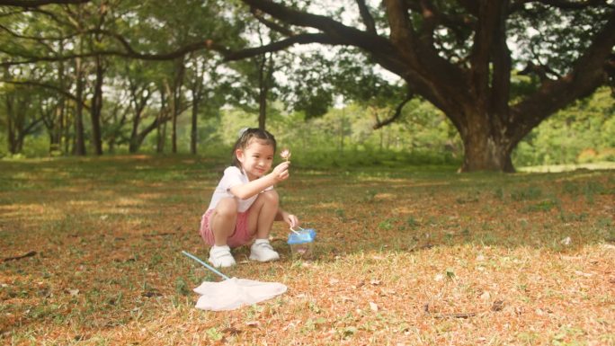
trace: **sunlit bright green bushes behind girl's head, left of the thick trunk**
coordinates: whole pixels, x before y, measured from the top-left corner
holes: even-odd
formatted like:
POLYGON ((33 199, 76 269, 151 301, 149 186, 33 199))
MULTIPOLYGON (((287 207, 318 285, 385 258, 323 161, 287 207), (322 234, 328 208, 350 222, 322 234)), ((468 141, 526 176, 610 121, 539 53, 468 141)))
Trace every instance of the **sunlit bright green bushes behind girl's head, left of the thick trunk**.
MULTIPOLYGON (((293 164, 303 167, 459 164, 459 152, 446 146, 452 141, 448 138, 451 129, 446 118, 425 119, 424 127, 413 127, 408 122, 374 130, 370 117, 374 111, 379 110, 352 104, 310 120, 303 120, 301 113, 274 112, 267 129, 276 137, 279 147, 290 147, 293 164), (414 136, 409 137, 408 131, 413 131, 414 136)), ((414 113, 411 107, 408 111, 417 119, 432 115, 424 110, 414 113)), ((209 132, 208 138, 201 138, 203 146, 226 147, 224 152, 230 153, 239 129, 256 126, 256 119, 253 114, 227 110, 220 118, 206 120, 205 124, 209 129, 218 130, 209 132)))

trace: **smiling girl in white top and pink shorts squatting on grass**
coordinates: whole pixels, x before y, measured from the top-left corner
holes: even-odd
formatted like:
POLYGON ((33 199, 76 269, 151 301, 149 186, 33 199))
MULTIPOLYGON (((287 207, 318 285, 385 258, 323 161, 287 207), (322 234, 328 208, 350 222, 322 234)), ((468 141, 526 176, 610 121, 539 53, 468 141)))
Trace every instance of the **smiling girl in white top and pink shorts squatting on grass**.
POLYGON ((280 259, 269 244, 274 220, 290 227, 299 218, 282 210, 273 185, 289 178, 290 162, 272 168, 276 142, 263 129, 242 129, 233 148, 233 165, 227 167, 201 219, 201 237, 211 245, 209 262, 215 267, 235 265, 230 247, 248 244, 250 260, 268 262, 280 259))

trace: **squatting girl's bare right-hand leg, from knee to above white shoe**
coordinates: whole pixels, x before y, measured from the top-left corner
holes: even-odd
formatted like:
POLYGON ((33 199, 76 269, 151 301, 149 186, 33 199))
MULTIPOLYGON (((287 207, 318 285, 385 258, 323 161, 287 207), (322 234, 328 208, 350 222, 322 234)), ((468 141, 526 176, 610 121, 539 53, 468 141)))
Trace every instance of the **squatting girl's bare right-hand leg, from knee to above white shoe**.
POLYGON ((275 190, 265 191, 258 195, 248 214, 248 233, 256 239, 267 239, 272 231, 273 220, 278 214, 280 197, 275 190))

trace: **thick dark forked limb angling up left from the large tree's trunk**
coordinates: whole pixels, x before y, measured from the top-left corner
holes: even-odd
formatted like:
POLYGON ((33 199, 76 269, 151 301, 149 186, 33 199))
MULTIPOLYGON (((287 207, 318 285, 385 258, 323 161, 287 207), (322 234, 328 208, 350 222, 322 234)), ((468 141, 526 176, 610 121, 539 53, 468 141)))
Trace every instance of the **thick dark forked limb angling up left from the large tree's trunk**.
POLYGON ((459 67, 438 55, 438 51, 418 40, 408 17, 406 0, 384 0, 391 34, 385 38, 369 31, 343 25, 333 19, 292 9, 271 0, 242 0, 264 13, 291 25, 319 30, 338 45, 367 52, 380 66, 401 76, 413 90, 442 110, 456 109, 468 98, 468 84, 459 67), (436 82, 437 81, 437 82, 436 82))

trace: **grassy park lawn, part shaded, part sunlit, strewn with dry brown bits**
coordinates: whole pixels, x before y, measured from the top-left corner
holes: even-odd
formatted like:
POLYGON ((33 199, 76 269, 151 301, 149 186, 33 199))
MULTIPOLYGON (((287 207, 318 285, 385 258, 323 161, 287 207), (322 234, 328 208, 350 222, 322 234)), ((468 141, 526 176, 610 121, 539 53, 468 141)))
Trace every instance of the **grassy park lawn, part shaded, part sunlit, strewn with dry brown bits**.
POLYGON ((316 228, 316 260, 293 260, 276 223, 280 262, 239 248, 224 272, 287 293, 201 311, 192 288, 218 277, 181 252, 207 259, 198 226, 223 168, 188 156, 0 161, 0 342, 615 344, 613 170, 294 163, 278 191, 316 228))

